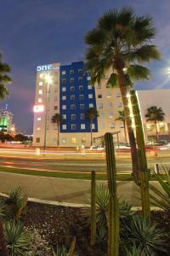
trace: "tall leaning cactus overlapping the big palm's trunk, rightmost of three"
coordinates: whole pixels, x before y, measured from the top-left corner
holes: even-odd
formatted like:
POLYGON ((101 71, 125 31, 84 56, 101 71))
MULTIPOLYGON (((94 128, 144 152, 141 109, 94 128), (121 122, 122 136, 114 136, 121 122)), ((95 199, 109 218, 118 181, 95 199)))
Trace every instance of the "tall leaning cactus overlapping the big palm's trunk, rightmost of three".
POLYGON ((139 104, 134 90, 130 91, 131 103, 133 108, 133 116, 136 130, 136 138, 138 144, 139 156, 139 179, 142 200, 142 212, 145 218, 150 217, 150 189, 149 189, 149 170, 144 146, 144 131, 139 111, 139 104))

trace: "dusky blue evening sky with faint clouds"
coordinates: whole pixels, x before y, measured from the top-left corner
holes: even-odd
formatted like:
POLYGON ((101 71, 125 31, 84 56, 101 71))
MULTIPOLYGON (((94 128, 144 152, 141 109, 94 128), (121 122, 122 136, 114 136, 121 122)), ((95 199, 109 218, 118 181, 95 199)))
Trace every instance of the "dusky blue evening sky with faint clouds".
POLYGON ((150 63, 150 82, 138 89, 170 88, 169 0, 0 0, 0 51, 12 68, 10 96, 2 104, 14 113, 19 131, 32 132, 36 67, 59 61, 83 61, 84 35, 105 10, 131 6, 138 15, 151 15, 161 61, 150 63))

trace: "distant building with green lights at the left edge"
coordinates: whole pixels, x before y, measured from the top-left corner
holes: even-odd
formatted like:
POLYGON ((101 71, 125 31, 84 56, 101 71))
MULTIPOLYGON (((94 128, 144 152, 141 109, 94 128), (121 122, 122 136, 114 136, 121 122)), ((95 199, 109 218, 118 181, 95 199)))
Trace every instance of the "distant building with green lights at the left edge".
POLYGON ((6 108, 0 110, 0 131, 11 132, 14 114, 6 108))

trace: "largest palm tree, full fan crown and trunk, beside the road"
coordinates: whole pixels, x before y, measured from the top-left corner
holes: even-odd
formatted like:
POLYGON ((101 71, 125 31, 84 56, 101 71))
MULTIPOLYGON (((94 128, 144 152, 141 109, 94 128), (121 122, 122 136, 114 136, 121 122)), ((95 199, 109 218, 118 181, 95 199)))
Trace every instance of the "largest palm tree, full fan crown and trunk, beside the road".
POLYGON ((107 84, 121 90, 135 176, 139 164, 127 91, 133 86, 133 81, 150 78, 149 69, 141 66, 142 63, 160 59, 156 46, 150 43, 155 35, 156 29, 150 17, 137 16, 133 9, 122 8, 106 12, 85 38, 89 46, 86 58, 92 84, 99 83, 110 73, 107 84))

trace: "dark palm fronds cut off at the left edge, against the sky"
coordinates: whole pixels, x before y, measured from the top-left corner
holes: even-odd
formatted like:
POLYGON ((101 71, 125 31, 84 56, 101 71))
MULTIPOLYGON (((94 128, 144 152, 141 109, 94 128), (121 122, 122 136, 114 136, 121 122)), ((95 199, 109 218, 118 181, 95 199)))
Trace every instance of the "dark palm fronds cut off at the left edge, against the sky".
POLYGON ((4 99, 8 96, 6 84, 11 82, 8 73, 10 73, 10 67, 7 63, 2 61, 2 55, 0 54, 0 99, 4 99))

